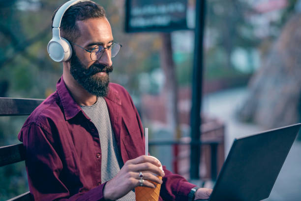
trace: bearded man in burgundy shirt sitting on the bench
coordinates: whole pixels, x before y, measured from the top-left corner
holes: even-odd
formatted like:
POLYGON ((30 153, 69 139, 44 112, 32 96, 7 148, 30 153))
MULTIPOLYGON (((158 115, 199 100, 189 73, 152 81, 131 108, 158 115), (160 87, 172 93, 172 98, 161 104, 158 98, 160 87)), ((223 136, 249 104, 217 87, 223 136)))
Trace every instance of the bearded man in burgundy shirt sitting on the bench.
POLYGON ((210 189, 197 189, 164 166, 162 172, 159 161, 143 155, 137 109, 123 87, 109 84, 111 57, 121 45, 114 42, 104 9, 77 2, 63 14, 60 35, 72 46, 71 59, 63 62, 57 91, 18 135, 34 199, 134 201, 135 187, 155 187, 149 181, 162 184, 160 201, 184 201, 188 194, 207 199, 210 189))

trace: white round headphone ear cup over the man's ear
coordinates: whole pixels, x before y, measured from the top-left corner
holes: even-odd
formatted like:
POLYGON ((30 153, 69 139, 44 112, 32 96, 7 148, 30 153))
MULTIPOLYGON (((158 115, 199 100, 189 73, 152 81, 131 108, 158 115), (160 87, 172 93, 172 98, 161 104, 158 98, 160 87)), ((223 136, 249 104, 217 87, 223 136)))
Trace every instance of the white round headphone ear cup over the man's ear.
POLYGON ((49 41, 47 51, 50 58, 55 62, 66 62, 72 55, 72 48, 68 40, 59 37, 53 37, 49 41))

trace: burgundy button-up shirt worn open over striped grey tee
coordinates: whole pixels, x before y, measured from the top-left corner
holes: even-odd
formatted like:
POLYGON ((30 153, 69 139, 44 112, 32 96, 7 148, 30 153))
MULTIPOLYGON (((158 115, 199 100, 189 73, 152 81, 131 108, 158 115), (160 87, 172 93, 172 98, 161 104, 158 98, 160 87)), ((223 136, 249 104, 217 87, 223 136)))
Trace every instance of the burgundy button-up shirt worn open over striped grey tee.
MULTIPOLYGON (((105 100, 125 163, 144 154, 143 127, 128 92, 118 84, 110 83, 109 87, 105 100)), ((18 138, 26 149, 34 200, 104 201, 97 129, 71 97, 62 77, 57 91, 31 113, 18 138)), ((163 169, 159 201, 187 200, 195 185, 163 169)))

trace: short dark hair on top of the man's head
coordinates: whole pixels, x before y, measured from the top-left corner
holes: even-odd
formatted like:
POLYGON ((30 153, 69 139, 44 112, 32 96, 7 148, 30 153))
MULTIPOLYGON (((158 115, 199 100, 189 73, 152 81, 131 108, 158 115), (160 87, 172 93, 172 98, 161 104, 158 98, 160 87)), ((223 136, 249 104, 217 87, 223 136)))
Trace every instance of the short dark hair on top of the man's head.
MULTIPOLYGON (((53 13, 52 24, 59 8, 53 13)), ((64 13, 60 23, 60 35, 70 42, 75 42, 81 35, 76 21, 100 17, 106 17, 106 12, 101 5, 93 1, 80 1, 70 6, 64 13)))

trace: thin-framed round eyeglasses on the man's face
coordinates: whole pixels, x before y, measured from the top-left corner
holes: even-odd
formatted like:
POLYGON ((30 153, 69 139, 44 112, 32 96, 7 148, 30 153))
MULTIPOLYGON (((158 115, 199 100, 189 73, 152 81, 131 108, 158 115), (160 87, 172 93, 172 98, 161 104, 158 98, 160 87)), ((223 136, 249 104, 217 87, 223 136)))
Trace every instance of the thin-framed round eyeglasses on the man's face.
POLYGON ((101 45, 96 45, 94 48, 87 50, 86 48, 83 48, 83 47, 79 46, 78 44, 75 44, 73 42, 71 42, 71 43, 86 50, 87 52, 90 52, 90 58, 93 61, 99 60, 102 57, 105 49, 108 50, 108 52, 111 54, 111 58, 113 58, 118 54, 120 48, 122 47, 121 44, 119 44, 117 42, 113 42, 112 45, 110 45, 109 47, 103 47, 101 45))

